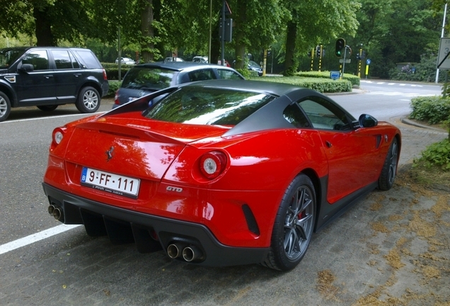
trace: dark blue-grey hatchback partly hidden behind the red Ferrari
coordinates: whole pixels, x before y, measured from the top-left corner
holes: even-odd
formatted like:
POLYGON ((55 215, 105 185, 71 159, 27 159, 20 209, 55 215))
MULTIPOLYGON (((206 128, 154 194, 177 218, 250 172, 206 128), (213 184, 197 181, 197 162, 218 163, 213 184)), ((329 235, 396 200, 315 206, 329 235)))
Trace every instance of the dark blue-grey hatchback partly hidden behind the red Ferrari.
POLYGON ((129 69, 116 91, 113 108, 169 86, 207 79, 244 79, 236 70, 217 64, 154 62, 129 69))

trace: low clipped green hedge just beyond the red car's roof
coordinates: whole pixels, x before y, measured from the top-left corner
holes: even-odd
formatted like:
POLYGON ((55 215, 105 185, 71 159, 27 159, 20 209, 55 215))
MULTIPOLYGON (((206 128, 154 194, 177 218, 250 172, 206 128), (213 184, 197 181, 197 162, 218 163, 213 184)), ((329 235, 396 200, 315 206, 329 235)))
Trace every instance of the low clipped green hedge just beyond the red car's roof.
POLYGON ((348 80, 333 80, 324 78, 305 77, 258 77, 251 78, 255 81, 271 81, 275 83, 291 84, 299 87, 313 89, 321 93, 349 92, 352 91, 352 84, 348 80))

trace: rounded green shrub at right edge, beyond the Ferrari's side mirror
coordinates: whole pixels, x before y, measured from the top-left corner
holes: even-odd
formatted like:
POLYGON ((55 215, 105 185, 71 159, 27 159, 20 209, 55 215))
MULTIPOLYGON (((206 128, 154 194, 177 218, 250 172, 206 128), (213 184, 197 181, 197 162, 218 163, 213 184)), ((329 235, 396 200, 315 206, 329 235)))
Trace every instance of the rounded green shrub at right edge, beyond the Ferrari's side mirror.
POLYGON ((411 100, 410 119, 443 123, 450 119, 450 99, 441 96, 417 97, 411 100))

